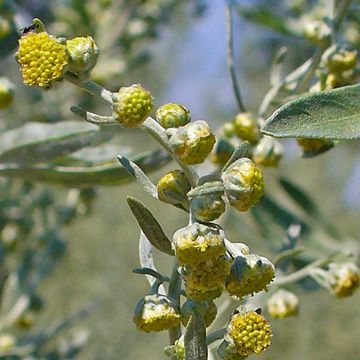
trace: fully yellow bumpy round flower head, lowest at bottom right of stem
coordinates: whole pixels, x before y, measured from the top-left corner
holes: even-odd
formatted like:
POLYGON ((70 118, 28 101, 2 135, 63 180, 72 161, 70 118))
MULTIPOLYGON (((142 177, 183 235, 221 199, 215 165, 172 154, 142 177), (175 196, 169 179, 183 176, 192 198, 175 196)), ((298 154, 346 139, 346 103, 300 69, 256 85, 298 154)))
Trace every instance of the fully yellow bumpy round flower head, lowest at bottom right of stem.
POLYGON ((227 326, 225 340, 242 356, 259 354, 271 345, 272 332, 268 321, 255 311, 235 314, 227 326))

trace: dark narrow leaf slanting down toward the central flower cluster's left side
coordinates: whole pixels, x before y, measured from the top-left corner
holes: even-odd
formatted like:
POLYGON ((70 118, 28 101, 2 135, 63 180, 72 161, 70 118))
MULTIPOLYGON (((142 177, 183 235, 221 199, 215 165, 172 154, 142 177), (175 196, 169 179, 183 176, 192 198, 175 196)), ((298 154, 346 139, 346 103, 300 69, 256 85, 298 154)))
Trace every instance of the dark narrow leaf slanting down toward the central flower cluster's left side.
POLYGON ((141 230, 144 232, 150 243, 161 252, 168 255, 174 255, 174 250, 171 247, 171 241, 165 235, 160 224, 145 207, 145 205, 132 197, 128 197, 127 201, 141 230))

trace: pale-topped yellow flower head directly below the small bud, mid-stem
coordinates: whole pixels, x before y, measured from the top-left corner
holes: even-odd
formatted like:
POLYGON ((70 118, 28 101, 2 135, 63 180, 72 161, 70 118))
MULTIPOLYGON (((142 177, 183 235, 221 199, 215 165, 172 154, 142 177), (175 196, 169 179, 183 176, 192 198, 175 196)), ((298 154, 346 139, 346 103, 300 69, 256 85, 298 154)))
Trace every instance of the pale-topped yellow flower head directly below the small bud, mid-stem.
POLYGON ((215 135, 205 121, 198 120, 177 128, 169 141, 183 163, 195 165, 204 162, 210 154, 215 135))

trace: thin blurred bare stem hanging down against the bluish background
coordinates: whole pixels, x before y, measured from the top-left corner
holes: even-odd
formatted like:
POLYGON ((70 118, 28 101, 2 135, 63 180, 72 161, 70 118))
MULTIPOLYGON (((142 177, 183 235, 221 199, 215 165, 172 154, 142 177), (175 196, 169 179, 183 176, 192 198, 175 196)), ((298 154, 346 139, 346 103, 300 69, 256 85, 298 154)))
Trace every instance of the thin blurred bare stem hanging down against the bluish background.
POLYGON ((234 94, 239 106, 240 112, 245 112, 245 106, 241 98, 240 86, 236 77, 234 65, 234 31, 233 31, 233 12, 230 3, 226 4, 226 37, 227 37, 227 63, 230 72, 231 82, 234 94))

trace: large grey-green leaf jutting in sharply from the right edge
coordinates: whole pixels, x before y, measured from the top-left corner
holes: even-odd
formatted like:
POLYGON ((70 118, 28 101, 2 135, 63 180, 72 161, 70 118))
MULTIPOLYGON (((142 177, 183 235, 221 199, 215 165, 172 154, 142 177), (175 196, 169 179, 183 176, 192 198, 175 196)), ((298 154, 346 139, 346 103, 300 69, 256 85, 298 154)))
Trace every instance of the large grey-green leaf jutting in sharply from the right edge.
POLYGON ((360 85, 302 96, 280 107, 262 132, 275 137, 360 139, 360 85))

